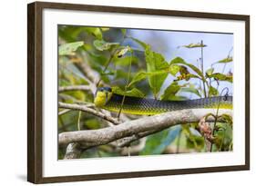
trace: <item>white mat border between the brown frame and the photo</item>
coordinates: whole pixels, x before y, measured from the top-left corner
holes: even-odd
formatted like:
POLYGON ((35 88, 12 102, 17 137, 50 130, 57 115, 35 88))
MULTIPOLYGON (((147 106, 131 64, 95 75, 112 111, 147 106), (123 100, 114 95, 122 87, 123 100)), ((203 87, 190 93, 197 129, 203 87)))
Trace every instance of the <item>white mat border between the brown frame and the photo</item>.
MULTIPOLYGON (((181 17, 145 15, 120 15, 81 11, 58 11, 46 9, 43 13, 43 176, 65 176, 93 173, 151 171, 214 167, 244 164, 244 22, 205 20, 181 17), (149 17, 149 18, 148 18, 149 17), (123 20, 128 20, 124 22, 123 20), (154 23, 152 25, 152 23, 154 23), (234 34, 234 127, 233 152, 193 153, 130 158, 108 158, 77 161, 56 161, 57 121, 57 24, 108 25, 110 27, 158 28, 189 31, 211 31, 234 34), (54 122, 53 122, 54 121, 54 122), (148 163, 150 162, 150 163, 148 163), (115 166, 122 165, 122 166, 115 166)), ((215 113, 215 111, 213 111, 215 113)))

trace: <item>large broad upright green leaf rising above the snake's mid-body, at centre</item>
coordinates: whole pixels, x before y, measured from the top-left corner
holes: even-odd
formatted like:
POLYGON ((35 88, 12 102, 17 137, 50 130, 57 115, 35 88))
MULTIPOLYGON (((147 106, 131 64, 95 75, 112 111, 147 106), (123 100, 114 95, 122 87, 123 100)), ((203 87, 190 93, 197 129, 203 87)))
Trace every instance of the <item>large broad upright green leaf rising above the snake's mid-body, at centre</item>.
MULTIPOLYGON (((147 62, 147 73, 154 73, 156 71, 169 68, 169 64, 165 61, 164 57, 159 53, 151 51, 149 45, 145 50, 145 58, 147 62)), ((149 86, 155 97, 157 97, 159 90, 167 76, 168 73, 162 73, 148 77, 149 86)))

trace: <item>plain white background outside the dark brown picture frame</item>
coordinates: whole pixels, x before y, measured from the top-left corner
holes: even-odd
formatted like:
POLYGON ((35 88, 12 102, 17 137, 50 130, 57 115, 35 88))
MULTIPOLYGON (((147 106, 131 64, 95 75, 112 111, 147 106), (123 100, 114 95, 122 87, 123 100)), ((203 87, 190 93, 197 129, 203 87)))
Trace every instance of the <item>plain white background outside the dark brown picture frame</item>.
MULTIPOLYGON (((56 2, 68 2, 57 1, 56 2)), ((26 182, 26 3, 8 0, 1 4, 1 185, 28 185, 26 182)), ((71 1, 69 0, 69 3, 71 1)), ((251 115, 255 113, 255 35, 256 12, 252 0, 73 0, 72 3, 95 5, 124 5, 230 14, 251 15, 251 115), (149 3, 150 2, 150 3, 149 3), (253 9, 254 8, 254 9, 253 9), (254 73, 254 74, 253 74, 254 73)), ((218 172, 115 181, 58 183, 55 185, 216 185, 254 182, 256 176, 255 118, 251 118, 251 171, 218 172)))

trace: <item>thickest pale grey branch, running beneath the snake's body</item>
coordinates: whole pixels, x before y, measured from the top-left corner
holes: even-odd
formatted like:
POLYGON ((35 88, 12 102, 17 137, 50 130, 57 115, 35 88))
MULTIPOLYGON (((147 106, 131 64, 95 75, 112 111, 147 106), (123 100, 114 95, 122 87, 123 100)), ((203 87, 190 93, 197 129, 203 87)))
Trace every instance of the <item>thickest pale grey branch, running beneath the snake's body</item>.
MULTIPOLYGON (((61 105, 63 104, 61 103, 61 105)), ((62 132, 58 136, 58 142, 60 145, 68 144, 70 142, 81 142, 83 144, 83 148, 87 149, 136 135, 140 132, 154 131, 159 128, 166 129, 176 124, 199 122, 205 115, 215 112, 216 111, 214 109, 181 110, 123 122, 112 127, 98 130, 62 132)), ((221 109, 219 114, 221 115, 223 113, 232 115, 231 110, 221 109)), ((213 122, 214 120, 215 118, 212 116, 207 118, 207 122, 213 122)))

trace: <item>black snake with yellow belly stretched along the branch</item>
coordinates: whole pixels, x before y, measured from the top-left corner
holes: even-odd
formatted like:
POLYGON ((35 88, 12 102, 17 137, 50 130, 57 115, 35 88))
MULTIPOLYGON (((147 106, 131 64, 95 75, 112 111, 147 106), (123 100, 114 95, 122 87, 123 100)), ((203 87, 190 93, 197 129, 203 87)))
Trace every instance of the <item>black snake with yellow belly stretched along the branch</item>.
POLYGON ((99 87, 95 93, 94 103, 97 107, 110 112, 130 113, 136 115, 154 115, 184 109, 232 109, 232 96, 212 96, 193 100, 163 101, 152 98, 113 93, 111 87, 99 87))

